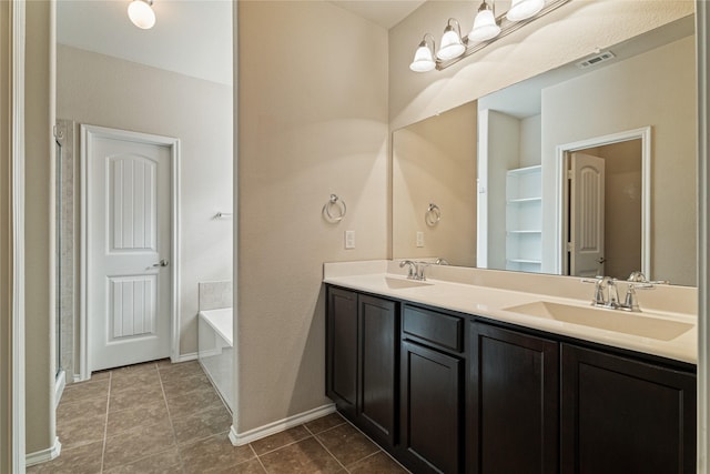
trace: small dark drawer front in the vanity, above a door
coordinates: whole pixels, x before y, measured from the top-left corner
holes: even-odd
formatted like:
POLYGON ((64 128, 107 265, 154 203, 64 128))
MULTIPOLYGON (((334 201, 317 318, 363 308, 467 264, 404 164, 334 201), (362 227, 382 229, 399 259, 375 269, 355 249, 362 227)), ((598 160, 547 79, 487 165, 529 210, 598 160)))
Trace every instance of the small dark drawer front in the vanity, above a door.
POLYGON ((405 306, 402 330, 427 344, 462 352, 464 350, 464 320, 436 311, 405 306))

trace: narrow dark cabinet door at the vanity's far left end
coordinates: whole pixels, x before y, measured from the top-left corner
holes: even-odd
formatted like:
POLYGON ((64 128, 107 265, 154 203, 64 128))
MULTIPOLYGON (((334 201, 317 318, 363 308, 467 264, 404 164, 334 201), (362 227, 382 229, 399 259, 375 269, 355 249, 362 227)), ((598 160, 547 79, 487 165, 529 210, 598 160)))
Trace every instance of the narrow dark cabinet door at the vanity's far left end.
POLYGON ((338 410, 355 416, 357 403, 357 293, 328 288, 326 394, 338 410))

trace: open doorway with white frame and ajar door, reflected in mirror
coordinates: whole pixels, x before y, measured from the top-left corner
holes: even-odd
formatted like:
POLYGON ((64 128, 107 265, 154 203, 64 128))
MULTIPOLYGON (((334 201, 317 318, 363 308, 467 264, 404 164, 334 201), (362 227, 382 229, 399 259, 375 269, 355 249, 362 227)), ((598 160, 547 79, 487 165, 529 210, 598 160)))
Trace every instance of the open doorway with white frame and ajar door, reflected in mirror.
POLYGON ((650 133, 558 147, 561 274, 650 274, 650 133))

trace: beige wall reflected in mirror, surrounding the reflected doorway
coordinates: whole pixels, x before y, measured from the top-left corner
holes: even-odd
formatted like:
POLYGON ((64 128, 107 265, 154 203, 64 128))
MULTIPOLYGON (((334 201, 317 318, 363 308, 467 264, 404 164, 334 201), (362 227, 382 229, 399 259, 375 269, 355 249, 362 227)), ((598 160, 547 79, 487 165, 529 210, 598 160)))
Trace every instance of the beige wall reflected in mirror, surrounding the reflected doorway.
MULTIPOLYGON (((686 285, 696 284, 694 63, 689 37, 542 91, 542 202, 554 201, 557 145, 652 127, 649 278, 686 285)), ((554 213, 542 219, 549 261, 554 213)))

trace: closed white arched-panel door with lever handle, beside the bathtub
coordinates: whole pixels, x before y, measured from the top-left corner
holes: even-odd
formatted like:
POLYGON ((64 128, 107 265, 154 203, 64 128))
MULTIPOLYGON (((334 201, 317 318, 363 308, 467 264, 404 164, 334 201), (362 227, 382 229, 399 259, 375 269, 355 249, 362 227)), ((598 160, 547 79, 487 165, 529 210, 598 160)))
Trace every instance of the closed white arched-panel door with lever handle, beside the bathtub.
POLYGON ((88 160, 90 370, 166 357, 170 147, 102 134, 88 160))

